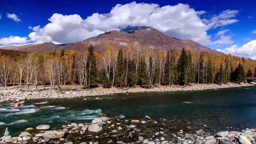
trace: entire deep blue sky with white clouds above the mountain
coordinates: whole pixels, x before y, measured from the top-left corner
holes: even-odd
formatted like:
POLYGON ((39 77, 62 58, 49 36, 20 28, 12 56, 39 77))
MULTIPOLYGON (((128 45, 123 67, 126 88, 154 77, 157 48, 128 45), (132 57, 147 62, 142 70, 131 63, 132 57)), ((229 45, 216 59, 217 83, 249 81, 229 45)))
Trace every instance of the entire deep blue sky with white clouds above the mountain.
POLYGON ((256 56, 256 0, 1 0, 0 5, 0 45, 70 43, 130 25, 256 56))

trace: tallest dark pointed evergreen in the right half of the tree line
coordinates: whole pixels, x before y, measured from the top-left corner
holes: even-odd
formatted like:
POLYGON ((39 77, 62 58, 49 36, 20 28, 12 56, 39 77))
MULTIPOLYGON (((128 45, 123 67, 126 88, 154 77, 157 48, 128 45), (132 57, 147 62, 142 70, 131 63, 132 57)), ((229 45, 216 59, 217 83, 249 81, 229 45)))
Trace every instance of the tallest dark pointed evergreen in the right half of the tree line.
POLYGON ((178 83, 180 85, 186 85, 188 83, 187 66, 188 66, 188 55, 186 54, 186 51, 183 48, 177 64, 178 83))

